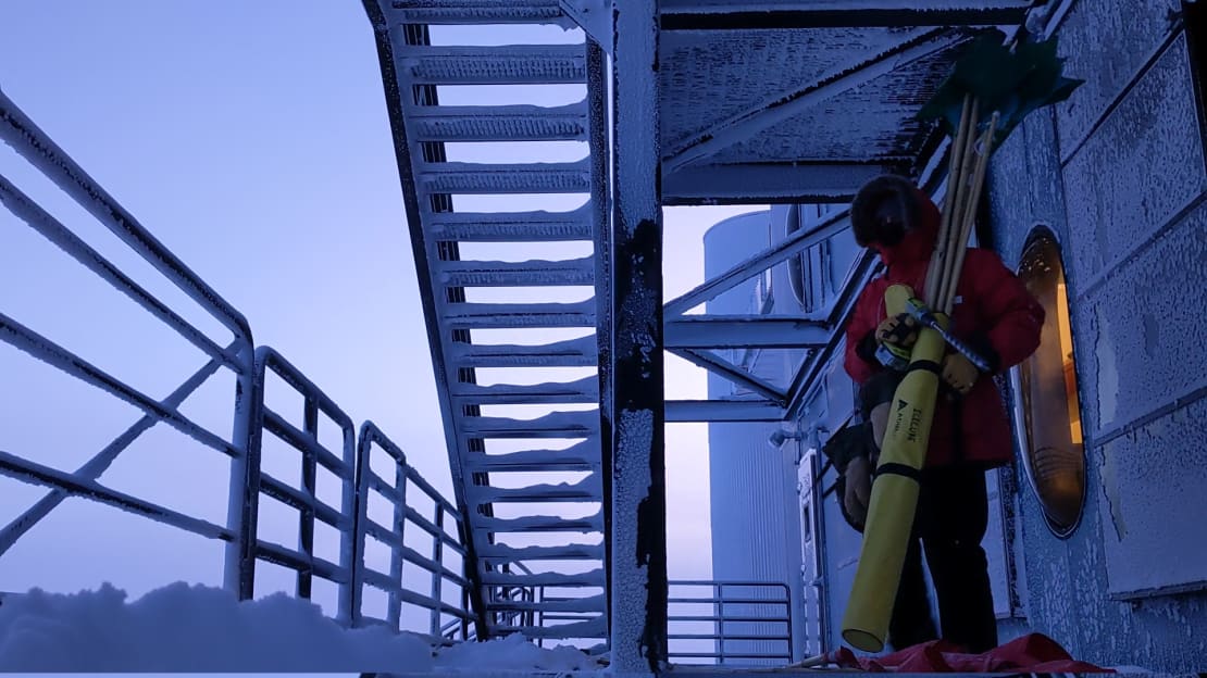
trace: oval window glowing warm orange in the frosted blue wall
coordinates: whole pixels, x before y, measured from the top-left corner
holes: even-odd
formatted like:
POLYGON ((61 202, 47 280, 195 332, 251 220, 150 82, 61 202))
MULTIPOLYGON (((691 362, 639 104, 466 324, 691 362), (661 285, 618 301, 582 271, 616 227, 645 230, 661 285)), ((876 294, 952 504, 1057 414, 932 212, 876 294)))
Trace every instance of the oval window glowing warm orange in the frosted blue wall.
POLYGON ((1022 461, 1048 526, 1067 537, 1085 504, 1085 450, 1065 267, 1050 234, 1039 232, 1027 242, 1019 277, 1045 311, 1039 349, 1015 370, 1022 461))

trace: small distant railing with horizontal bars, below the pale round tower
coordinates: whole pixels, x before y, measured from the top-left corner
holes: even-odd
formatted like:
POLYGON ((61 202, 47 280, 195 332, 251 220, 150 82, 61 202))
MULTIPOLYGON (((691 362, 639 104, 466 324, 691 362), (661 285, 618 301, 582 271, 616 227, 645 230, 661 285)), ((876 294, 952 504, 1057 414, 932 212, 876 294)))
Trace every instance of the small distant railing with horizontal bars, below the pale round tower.
POLYGON ((787 584, 669 581, 667 657, 687 664, 792 661, 787 584))

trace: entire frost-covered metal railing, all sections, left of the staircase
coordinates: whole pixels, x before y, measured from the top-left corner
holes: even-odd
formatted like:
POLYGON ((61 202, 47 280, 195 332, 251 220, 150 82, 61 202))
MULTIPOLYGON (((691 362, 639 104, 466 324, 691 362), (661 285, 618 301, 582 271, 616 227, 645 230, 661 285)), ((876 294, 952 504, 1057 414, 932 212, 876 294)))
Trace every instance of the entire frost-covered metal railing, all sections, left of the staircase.
MULTIPOLYGON (((256 349, 247 320, 118 205, 2 92, 0 139, 231 333, 229 338, 215 340, 197 325, 185 320, 180 311, 136 282, 113 261, 88 245, 18 189, 7 176, 0 174, 0 204, 101 281, 199 349, 208 358, 167 397, 158 399, 39 334, 0 309, 0 340, 142 413, 138 421, 74 470, 39 463, 35 461, 37 450, 0 450, 0 474, 49 490, 0 531, 0 557, 64 499, 82 497, 225 542, 223 585, 243 600, 253 596, 256 562, 263 560, 296 573, 296 592, 299 597, 310 597, 316 577, 338 586, 337 618, 345 624, 371 620, 361 610, 361 586, 369 584, 389 591, 390 612, 385 621, 395 629, 400 629, 400 603, 406 602, 430 614, 424 632, 433 639, 463 639, 472 636, 470 621, 476 618, 467 612, 468 583, 461 573, 466 565, 462 520, 453 504, 406 464, 401 450, 375 426, 366 422, 357 438, 352 420, 301 370, 270 347, 256 349), (222 372, 233 375, 235 384, 231 404, 233 427, 226 434, 202 426, 180 410, 191 394, 222 372), (301 396, 301 426, 292 423, 287 413, 266 405, 266 393, 275 393, 274 390, 278 388, 269 384, 275 382, 282 382, 292 391, 292 396, 301 396), (338 428, 338 444, 327 446, 320 442, 322 417, 338 428), (140 436, 159 423, 170 426, 229 458, 225 525, 111 489, 98 480, 140 436), (284 474, 274 475, 263 469, 266 437, 272 437, 297 452, 298 483, 291 484, 284 474), (386 449, 392 457, 392 473, 396 477, 392 484, 371 472, 369 455, 374 446, 386 449), (325 502, 320 498, 322 492, 317 480, 321 474, 331 474, 337 479, 337 501, 325 502), (422 496, 433 502, 435 513, 431 518, 416 512, 408 502, 407 485, 418 487, 422 496), (367 518, 372 514, 374 491, 384 493, 393 507, 396 520, 389 528, 371 522, 367 518), (263 497, 297 510, 295 547, 260 537, 257 525, 263 497), (430 555, 421 555, 415 547, 403 542, 402 525, 406 521, 418 526, 409 534, 427 536, 419 539, 426 547, 418 548, 428 548, 430 555), (336 561, 315 553, 316 528, 322 526, 338 533, 336 561), (367 565, 369 554, 365 550, 366 534, 385 543, 391 562, 389 574, 377 572, 367 565), (391 534, 396 534, 397 539, 392 539, 391 534), (454 554, 462 562, 453 568, 448 567, 444 565, 448 554, 454 554), (404 569, 409 568, 403 567, 404 562, 431 574, 425 592, 416 592, 414 586, 406 585, 404 569), (449 602, 450 600, 455 603, 449 602)), ((292 469, 290 473, 292 474, 292 469)))

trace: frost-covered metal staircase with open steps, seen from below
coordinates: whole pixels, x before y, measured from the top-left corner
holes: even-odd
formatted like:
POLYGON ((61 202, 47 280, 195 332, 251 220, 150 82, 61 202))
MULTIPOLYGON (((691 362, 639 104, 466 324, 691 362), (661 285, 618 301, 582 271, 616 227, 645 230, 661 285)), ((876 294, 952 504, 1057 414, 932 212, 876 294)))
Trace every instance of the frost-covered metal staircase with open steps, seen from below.
POLYGON ((467 568, 480 595, 476 608, 485 612, 479 635, 602 641, 605 498, 595 329, 601 297, 546 300, 596 284, 595 249, 588 256, 583 251, 600 230, 593 195, 602 194, 606 148, 602 112, 593 121, 590 111, 604 106, 602 99, 591 106, 590 98, 602 98, 602 88, 588 87, 588 80, 591 68, 602 69, 602 58, 585 36, 575 45, 497 46, 500 36, 524 25, 573 25, 556 0, 365 5, 381 57, 453 483, 466 519, 467 568), (492 31, 496 45, 443 43, 473 35, 466 30, 473 27, 492 31), (514 103, 514 88, 547 84, 581 86, 582 100, 548 107, 514 103), (491 87, 480 87, 473 105, 441 105, 444 88, 466 86, 491 87), (449 160, 453 145, 482 145, 505 151, 492 157, 512 157, 506 151, 520 144, 549 141, 584 142, 585 157, 449 160), (489 197, 524 195, 540 208, 544 197, 561 197, 565 204, 567 194, 582 194, 587 203, 570 211, 457 210, 459 201, 482 204, 483 197, 489 204, 489 197), (548 244, 573 242, 562 247, 575 252, 564 259, 494 261, 468 253, 496 245, 515 251, 515 244, 546 252, 548 244), (567 329, 576 335, 565 338, 567 329), (567 380, 547 380, 562 368, 578 369, 567 380), (484 379, 485 370, 507 378, 484 379), (550 475, 570 480, 549 481, 550 475))

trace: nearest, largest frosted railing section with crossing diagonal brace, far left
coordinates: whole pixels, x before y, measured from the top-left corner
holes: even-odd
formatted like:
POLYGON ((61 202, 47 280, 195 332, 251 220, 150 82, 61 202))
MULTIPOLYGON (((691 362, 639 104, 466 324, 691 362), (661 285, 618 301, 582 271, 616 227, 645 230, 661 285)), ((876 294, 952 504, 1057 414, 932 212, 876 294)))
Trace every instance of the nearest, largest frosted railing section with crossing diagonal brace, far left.
POLYGON ((247 501, 250 493, 246 491, 246 479, 247 444, 252 417, 250 396, 253 391, 255 369, 253 344, 246 318, 156 240, 133 215, 118 205, 4 93, 0 93, 0 139, 4 139, 130 250, 154 267, 233 334, 233 339, 226 346, 216 343, 59 223, 22 193, 7 177, 0 176, 0 203, 4 203, 13 215, 209 356, 209 362, 161 401, 107 374, 0 311, 0 339, 142 411, 141 419, 97 452, 88 462, 70 473, 36 463, 19 454, 7 450, 0 451, 0 472, 25 483, 52 489, 48 495, 0 532, 0 555, 68 496, 82 496, 146 515, 203 537, 225 540, 228 544, 225 584, 244 597, 250 596, 251 561, 249 559, 251 553, 247 547, 250 530, 253 525, 255 502, 247 501), (229 442, 192 421, 177 409, 189 394, 220 369, 233 372, 238 384, 233 404, 234 436, 229 442), (231 458, 231 503, 225 526, 183 515, 163 505, 115 491, 97 481, 97 478, 123 450, 156 423, 171 426, 231 458))

